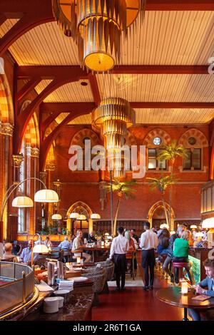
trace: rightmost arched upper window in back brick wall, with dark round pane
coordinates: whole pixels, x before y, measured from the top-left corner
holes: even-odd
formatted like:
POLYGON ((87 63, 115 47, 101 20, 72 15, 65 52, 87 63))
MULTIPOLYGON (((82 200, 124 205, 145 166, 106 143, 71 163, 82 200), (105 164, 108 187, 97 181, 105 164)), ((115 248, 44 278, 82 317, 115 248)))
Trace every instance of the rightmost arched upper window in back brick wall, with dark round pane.
POLYGON ((203 148, 208 147, 205 135, 200 130, 190 129, 181 136, 179 144, 187 153, 187 157, 183 158, 182 170, 203 170, 203 148))

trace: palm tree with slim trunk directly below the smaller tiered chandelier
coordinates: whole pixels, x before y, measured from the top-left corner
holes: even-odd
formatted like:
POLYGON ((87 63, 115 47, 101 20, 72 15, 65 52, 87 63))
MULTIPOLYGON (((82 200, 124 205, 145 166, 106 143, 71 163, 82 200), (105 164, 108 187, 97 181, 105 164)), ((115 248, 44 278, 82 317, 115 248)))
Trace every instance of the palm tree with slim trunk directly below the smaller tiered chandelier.
POLYGON ((108 182, 108 184, 105 185, 107 192, 111 192, 111 187, 112 187, 112 192, 116 192, 116 195, 118 197, 116 215, 114 217, 114 222, 113 222, 113 231, 111 232, 113 236, 116 235, 116 223, 117 223, 121 200, 123 199, 123 197, 125 197, 126 200, 134 197, 133 193, 137 192, 137 190, 133 188, 134 185, 136 185, 136 180, 120 181, 117 178, 112 179, 112 185, 111 185, 111 182, 108 182))

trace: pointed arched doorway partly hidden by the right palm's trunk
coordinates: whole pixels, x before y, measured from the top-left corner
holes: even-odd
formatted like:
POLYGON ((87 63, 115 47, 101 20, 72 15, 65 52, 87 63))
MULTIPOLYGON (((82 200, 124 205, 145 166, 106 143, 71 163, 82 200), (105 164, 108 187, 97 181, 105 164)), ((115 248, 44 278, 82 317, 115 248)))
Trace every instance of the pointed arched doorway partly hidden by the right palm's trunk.
MULTIPOLYGON (((165 202, 165 208, 169 216, 170 206, 168 205, 167 202, 165 202)), ((175 220, 175 213, 173 211, 173 208, 171 208, 170 231, 174 230, 174 220, 175 220)), ((148 211, 148 222, 150 222, 153 227, 157 226, 157 228, 160 227, 161 223, 166 223, 165 210, 162 201, 156 202, 148 211)))

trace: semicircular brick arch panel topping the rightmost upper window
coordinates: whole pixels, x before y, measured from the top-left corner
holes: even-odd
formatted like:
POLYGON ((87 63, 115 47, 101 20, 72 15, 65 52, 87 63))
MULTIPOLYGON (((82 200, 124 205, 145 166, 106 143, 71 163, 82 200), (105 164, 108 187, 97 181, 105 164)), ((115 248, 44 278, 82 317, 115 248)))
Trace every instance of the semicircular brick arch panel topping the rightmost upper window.
POLYGON ((191 128, 185 131, 183 135, 181 135, 179 142, 180 145, 183 145, 185 148, 207 148, 209 146, 208 139, 205 137, 205 135, 198 129, 191 128), (190 145, 188 143, 189 138, 195 138, 196 143, 195 145, 190 145))

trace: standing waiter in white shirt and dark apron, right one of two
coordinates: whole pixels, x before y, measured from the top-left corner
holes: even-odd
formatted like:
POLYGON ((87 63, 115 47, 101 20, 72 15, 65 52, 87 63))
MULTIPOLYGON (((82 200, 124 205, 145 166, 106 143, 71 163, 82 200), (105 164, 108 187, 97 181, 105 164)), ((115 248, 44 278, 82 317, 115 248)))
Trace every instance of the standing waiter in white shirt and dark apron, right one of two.
POLYGON ((145 286, 143 289, 148 291, 153 289, 154 269, 156 264, 155 249, 158 247, 158 237, 155 232, 150 230, 150 223, 144 222, 144 230, 141 234, 140 248, 142 249, 141 265, 145 275, 145 286), (149 268, 149 272, 148 272, 149 268))

